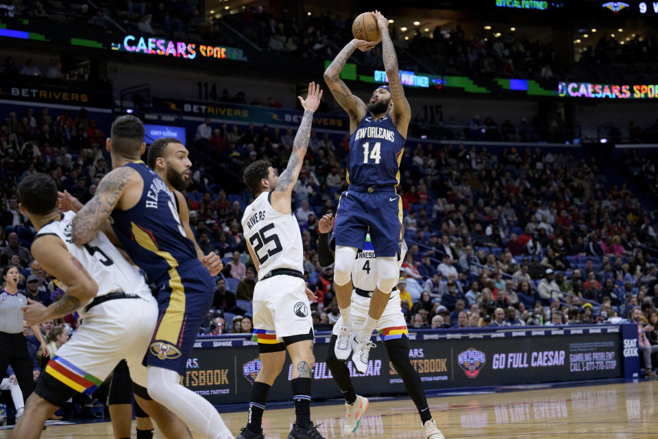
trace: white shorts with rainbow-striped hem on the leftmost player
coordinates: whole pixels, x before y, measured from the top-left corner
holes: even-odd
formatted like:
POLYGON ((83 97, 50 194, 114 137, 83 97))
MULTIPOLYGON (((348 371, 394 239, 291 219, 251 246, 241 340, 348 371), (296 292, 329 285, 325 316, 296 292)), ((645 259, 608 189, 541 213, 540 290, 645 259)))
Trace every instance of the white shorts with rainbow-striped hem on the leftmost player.
POLYGON ((147 387, 144 355, 158 320, 152 296, 114 299, 84 313, 71 340, 58 349, 46 372, 77 392, 92 394, 125 359, 132 381, 147 387))

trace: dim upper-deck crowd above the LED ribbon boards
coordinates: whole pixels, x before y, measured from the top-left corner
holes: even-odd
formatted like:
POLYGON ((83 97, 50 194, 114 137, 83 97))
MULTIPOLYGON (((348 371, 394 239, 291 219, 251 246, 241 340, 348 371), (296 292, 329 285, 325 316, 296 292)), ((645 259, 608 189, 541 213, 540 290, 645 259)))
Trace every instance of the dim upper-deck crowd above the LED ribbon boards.
MULTIPOLYGON (((108 1, 100 7, 84 1, 36 1, 20 6, 15 16, 55 19, 69 16, 74 25, 99 29, 119 29, 132 34, 191 38, 204 43, 241 44, 236 29, 261 49, 299 57, 329 59, 352 39, 352 16, 308 14, 283 10, 278 16, 263 6, 247 5, 216 18, 206 16, 201 2, 165 0, 160 2, 108 1), (207 17, 207 18, 206 18, 207 17)), ((217 11, 223 12, 223 11, 217 11)), ((403 67, 430 73, 478 75, 485 78, 527 78, 552 80, 565 71, 548 43, 517 32, 502 35, 492 31, 467 35, 461 25, 451 29, 435 27, 428 32, 419 27, 401 32, 390 27, 403 67)), ((242 42, 243 43, 243 42, 242 42)), ((355 54, 360 62, 381 65, 380 49, 355 54)))

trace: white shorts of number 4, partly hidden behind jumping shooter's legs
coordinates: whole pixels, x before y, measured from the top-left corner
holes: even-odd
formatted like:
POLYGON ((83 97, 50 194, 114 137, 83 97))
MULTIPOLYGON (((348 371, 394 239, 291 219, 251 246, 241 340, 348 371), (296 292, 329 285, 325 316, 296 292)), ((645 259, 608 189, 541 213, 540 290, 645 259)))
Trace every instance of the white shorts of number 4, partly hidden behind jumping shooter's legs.
MULTIPOLYGON (((370 309, 370 298, 359 296, 356 292, 352 292, 352 322, 354 322, 354 331, 361 331, 365 319, 368 317, 368 310, 370 309)), ((343 324, 343 318, 340 317, 332 334, 338 335, 339 328, 343 324)), ((393 340, 395 338, 402 338, 402 335, 409 336, 409 331, 406 329, 406 321, 404 321, 404 314, 402 314, 402 306, 400 305, 400 292, 395 290, 391 293, 391 298, 386 304, 386 308, 382 316, 377 321, 376 331, 379 333, 382 342, 393 340)))

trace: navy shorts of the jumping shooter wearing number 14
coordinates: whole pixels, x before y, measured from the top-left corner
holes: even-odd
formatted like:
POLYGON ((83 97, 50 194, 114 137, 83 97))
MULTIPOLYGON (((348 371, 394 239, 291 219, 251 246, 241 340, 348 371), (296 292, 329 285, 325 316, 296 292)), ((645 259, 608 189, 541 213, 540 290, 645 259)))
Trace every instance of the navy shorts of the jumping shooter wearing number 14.
POLYGON ((402 198, 394 187, 372 193, 350 187, 342 193, 334 221, 336 245, 363 249, 368 232, 376 257, 400 254, 402 198))

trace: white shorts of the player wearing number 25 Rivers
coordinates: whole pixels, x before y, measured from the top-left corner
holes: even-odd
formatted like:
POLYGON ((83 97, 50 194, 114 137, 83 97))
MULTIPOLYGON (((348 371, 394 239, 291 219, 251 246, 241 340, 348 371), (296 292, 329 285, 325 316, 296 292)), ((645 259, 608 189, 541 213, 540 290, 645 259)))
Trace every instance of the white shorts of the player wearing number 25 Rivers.
POLYGON ((254 337, 259 344, 283 342, 283 337, 313 331, 306 283, 295 276, 272 276, 254 289, 254 337))

